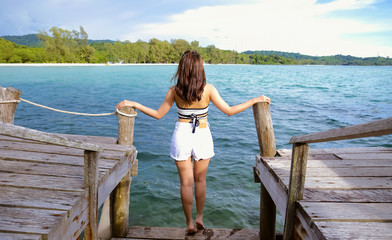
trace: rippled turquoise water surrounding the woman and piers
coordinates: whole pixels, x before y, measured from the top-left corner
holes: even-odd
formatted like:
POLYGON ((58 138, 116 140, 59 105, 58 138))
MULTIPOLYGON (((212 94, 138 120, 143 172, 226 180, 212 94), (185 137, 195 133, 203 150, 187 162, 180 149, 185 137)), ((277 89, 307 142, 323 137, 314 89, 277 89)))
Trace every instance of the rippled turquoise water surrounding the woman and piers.
MULTIPOLYGON (((392 115, 392 67, 206 65, 207 81, 230 104, 260 94, 271 97, 277 148, 292 136, 364 123, 392 115)), ((158 108, 176 65, 0 67, 0 85, 22 98, 88 113, 113 112, 123 100, 158 108)), ((132 180, 130 224, 185 226, 179 179, 170 159, 175 108, 158 121, 139 114, 134 145, 139 172, 132 180)), ((205 224, 257 228, 259 184, 252 166, 259 148, 251 109, 227 117, 211 106, 215 157, 207 176, 205 224)), ((37 130, 98 136, 117 135, 117 118, 82 117, 18 105, 15 124, 37 130)), ((312 144, 311 148, 385 146, 391 136, 312 144)), ((282 219, 278 217, 278 229, 282 219)))

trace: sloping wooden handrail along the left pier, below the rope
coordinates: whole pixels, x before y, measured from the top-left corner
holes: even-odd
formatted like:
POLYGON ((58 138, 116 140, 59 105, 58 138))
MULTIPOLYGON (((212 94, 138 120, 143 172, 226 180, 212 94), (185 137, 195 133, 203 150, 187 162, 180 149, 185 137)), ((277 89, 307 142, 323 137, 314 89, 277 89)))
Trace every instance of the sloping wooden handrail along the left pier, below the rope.
POLYGON ((90 151, 102 151, 102 148, 95 144, 86 143, 78 140, 70 140, 68 138, 60 137, 54 134, 41 132, 21 126, 15 126, 4 122, 0 122, 0 134, 90 151))

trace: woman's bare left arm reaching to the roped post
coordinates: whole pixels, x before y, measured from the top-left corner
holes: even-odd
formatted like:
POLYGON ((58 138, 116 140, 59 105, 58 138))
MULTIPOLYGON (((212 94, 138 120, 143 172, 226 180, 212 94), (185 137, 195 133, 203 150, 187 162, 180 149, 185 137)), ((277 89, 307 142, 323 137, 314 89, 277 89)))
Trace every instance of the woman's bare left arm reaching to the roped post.
POLYGON ((119 109, 123 106, 134 107, 137 110, 141 111, 142 113, 147 114, 148 116, 159 120, 163 116, 166 115, 166 113, 173 106, 173 103, 174 103, 174 91, 172 88, 170 88, 169 91, 167 91, 166 97, 163 100, 163 103, 161 104, 161 106, 158 108, 158 110, 146 107, 138 102, 133 102, 133 101, 128 101, 128 100, 124 100, 124 101, 120 102, 116 106, 116 108, 119 109))

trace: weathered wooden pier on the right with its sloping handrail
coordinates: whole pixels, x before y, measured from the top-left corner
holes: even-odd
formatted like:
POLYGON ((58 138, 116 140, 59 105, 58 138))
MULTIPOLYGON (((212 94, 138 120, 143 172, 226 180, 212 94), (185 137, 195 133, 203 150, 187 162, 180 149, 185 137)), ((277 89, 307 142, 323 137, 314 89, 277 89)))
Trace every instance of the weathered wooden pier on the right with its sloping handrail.
MULTIPOLYGON (((264 208, 285 216, 284 239, 392 239, 392 148, 308 146, 391 133, 389 118, 293 137, 293 150, 257 156, 255 178, 272 199, 264 208)), ((261 234, 273 231, 268 227, 261 225, 261 234)))

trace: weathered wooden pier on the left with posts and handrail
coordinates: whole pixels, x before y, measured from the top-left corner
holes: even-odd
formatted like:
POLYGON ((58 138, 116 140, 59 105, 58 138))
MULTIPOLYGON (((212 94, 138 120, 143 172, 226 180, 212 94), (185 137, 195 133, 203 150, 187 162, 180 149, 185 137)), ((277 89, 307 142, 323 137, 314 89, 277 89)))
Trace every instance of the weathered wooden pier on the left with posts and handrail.
POLYGON ((103 228, 126 236, 134 118, 118 115, 118 139, 36 131, 13 125, 20 95, 0 86, 0 239, 97 240, 104 202, 103 228))

